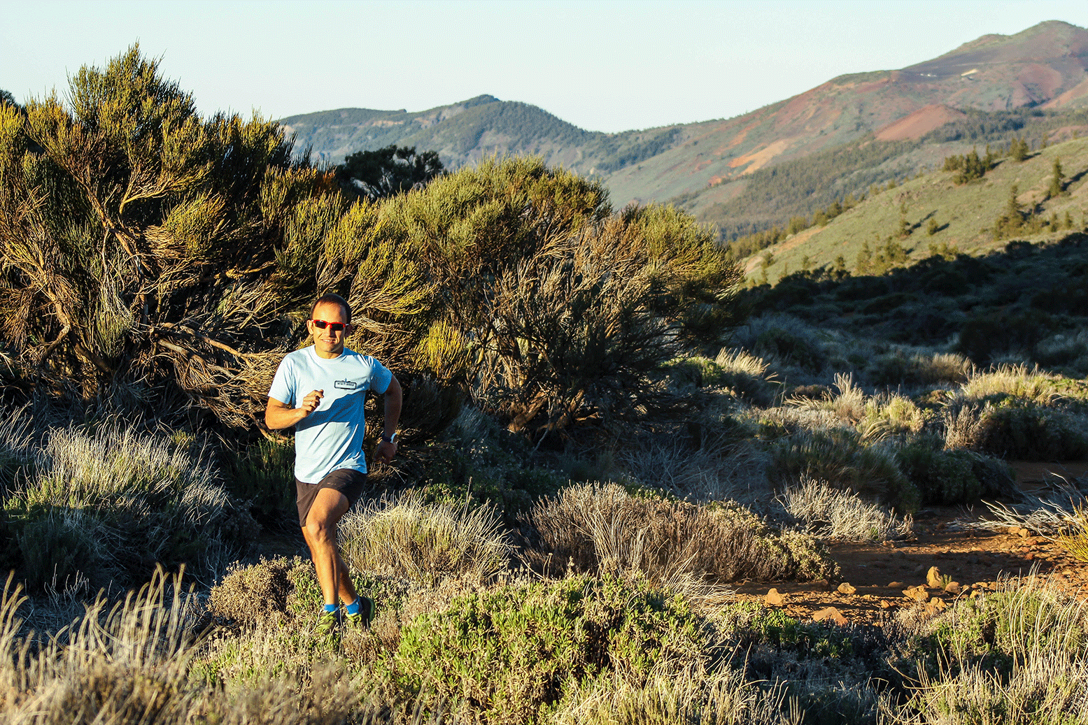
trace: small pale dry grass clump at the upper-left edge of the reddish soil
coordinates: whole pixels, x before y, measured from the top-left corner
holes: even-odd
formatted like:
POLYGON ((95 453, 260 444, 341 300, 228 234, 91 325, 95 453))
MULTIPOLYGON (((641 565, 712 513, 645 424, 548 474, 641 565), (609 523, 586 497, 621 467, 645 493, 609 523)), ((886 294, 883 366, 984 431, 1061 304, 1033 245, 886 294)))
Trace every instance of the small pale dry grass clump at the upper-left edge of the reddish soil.
POLYGON ((820 480, 802 479, 787 487, 778 501, 806 533, 820 539, 883 541, 908 536, 914 528, 910 514, 897 516, 820 480))

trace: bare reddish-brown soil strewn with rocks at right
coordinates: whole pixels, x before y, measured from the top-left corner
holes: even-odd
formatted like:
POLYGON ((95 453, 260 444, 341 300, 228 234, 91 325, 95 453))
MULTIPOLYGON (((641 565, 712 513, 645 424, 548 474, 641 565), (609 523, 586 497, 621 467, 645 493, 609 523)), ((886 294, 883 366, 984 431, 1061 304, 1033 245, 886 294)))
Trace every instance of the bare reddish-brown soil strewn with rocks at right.
MULTIPOLYGON (((1013 467, 1025 489, 1046 486, 1055 474, 1066 478, 1088 475, 1088 462, 1014 463, 1013 467)), ((834 582, 747 580, 734 588, 741 599, 768 607, 776 605, 767 601, 769 590, 775 588, 782 595, 782 603, 777 605, 798 618, 809 618, 833 607, 852 622, 880 621, 899 608, 917 607, 918 597, 936 612, 957 597, 992 591, 999 579, 1027 574, 1033 568, 1070 593, 1088 598, 1088 567, 1049 538, 1023 528, 993 533, 963 526, 972 516, 977 518, 985 512, 977 507, 974 512, 963 508, 927 509, 915 517, 914 536, 908 540, 832 545, 831 557, 842 568, 834 582), (957 583, 961 592, 927 587, 931 566, 957 583), (854 591, 839 591, 842 583, 848 583, 846 589, 854 591), (922 593, 915 589, 912 598, 907 589, 919 585, 925 589, 922 593)))

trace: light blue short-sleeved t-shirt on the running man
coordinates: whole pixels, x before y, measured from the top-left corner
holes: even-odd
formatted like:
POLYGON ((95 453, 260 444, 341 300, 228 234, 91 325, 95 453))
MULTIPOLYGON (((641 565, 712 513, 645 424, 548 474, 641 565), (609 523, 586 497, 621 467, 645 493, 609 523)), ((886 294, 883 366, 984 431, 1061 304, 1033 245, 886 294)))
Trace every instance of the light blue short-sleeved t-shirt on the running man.
POLYGON ((381 395, 393 373, 370 355, 344 349, 326 360, 308 348, 288 353, 275 372, 269 397, 298 408, 311 390, 324 390, 321 404, 295 426, 295 477, 320 483, 337 468, 367 473, 362 450, 367 390, 381 395))

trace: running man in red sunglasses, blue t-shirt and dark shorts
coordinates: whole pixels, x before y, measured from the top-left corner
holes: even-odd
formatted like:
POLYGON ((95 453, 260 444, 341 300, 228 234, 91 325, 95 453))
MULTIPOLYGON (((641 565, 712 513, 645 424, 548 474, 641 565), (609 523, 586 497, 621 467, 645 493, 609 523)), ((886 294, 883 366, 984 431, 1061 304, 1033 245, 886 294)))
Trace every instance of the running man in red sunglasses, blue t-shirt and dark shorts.
POLYGON ((336 625, 337 598, 345 603, 347 622, 369 626, 374 617, 374 602, 359 597, 341 558, 336 524, 367 483, 367 391, 385 396, 385 426, 374 451, 380 463, 388 463, 397 452, 401 393, 397 378, 382 363, 344 347, 351 334, 351 310, 343 297, 318 299, 306 328, 313 345, 280 363, 264 423, 273 430, 295 426, 298 521, 325 600, 316 632, 326 634, 336 625))

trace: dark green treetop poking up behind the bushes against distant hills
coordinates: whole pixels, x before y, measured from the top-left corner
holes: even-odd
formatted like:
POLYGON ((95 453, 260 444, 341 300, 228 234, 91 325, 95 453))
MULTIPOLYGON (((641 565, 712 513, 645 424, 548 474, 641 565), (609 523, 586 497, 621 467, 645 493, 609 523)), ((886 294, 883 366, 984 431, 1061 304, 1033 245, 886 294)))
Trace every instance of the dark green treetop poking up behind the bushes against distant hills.
POLYGON ((444 171, 437 151, 418 153, 415 146, 390 145, 376 151, 349 153, 336 166, 336 178, 349 196, 366 196, 373 201, 426 184, 444 171))

